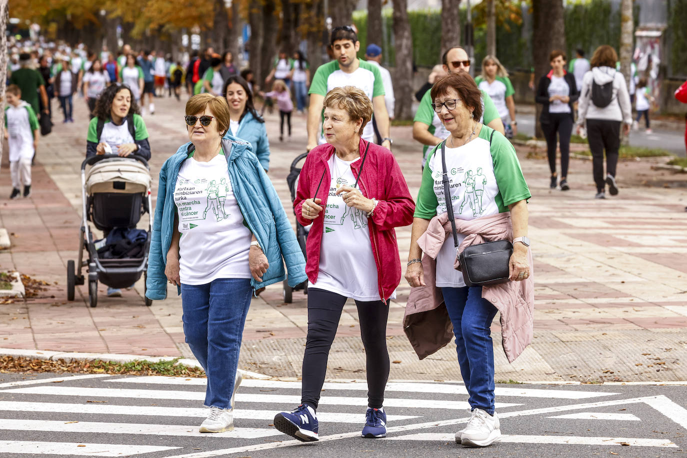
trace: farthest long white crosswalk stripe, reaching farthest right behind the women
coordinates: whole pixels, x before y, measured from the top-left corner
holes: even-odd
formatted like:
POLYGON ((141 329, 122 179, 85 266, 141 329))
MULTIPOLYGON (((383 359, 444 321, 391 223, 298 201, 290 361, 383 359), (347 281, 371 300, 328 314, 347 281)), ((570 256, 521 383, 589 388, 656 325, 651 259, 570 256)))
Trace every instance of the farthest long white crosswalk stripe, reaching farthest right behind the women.
MULTIPOLYGON (((206 378, 183 378, 183 377, 164 377, 164 376, 143 376, 127 377, 109 380, 119 383, 150 383, 158 385, 193 385, 205 386, 206 378)), ((243 379, 241 387, 244 388, 290 388, 301 389, 301 382, 285 382, 282 380, 253 380, 243 379)), ((367 391, 368 384, 365 382, 328 382, 323 389, 340 390, 359 390, 367 391)), ((403 391, 410 393, 440 393, 440 394, 467 394, 464 385, 452 385, 447 383, 422 383, 422 382, 389 382, 385 391, 403 391)), ((596 398, 599 396, 613 396, 618 393, 607 393, 603 391, 574 391, 563 389, 538 389, 538 388, 507 388, 497 387, 496 396, 517 396, 523 398, 554 398, 554 399, 583 399, 596 398)))

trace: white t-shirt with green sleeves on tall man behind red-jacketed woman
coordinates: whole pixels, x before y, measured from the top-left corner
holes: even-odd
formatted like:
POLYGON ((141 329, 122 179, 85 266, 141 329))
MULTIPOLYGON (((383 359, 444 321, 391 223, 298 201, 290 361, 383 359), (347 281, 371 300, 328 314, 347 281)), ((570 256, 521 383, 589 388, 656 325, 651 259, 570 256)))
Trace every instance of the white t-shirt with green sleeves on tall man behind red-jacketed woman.
MULTIPOLYGON (((360 67, 352 73, 346 73, 339 69, 339 61, 332 60, 324 65, 317 67, 313 82, 310 85, 308 94, 327 95, 335 87, 354 86, 368 95, 373 100, 377 95, 384 95, 384 83, 379 67, 370 64, 365 60, 359 60, 360 67)), ((374 141, 374 127, 372 122, 368 122, 363 129, 364 140, 374 141)), ((319 144, 326 143, 322 131, 319 135, 319 144)))

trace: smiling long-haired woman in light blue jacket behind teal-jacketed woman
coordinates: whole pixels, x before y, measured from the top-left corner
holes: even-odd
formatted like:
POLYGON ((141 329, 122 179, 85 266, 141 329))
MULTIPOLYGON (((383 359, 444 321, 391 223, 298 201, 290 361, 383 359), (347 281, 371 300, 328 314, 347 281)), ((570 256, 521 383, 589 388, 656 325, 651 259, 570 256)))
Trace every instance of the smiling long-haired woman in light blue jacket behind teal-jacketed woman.
POLYGON ((229 113, 232 116, 227 135, 234 135, 251 144, 260 165, 267 172, 269 169, 267 129, 264 127, 264 119, 258 115, 253 106, 253 93, 248 83, 238 75, 229 76, 224 82, 222 93, 229 102, 229 113))

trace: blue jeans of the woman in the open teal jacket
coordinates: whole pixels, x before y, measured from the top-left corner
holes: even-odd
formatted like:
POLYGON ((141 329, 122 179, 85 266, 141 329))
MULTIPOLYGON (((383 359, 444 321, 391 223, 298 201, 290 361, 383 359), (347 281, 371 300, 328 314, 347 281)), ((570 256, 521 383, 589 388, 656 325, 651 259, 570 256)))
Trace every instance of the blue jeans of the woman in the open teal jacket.
POLYGON ((230 398, 252 293, 248 278, 181 284, 183 333, 207 374, 206 407, 232 409, 230 398))

